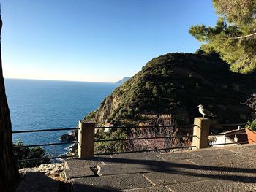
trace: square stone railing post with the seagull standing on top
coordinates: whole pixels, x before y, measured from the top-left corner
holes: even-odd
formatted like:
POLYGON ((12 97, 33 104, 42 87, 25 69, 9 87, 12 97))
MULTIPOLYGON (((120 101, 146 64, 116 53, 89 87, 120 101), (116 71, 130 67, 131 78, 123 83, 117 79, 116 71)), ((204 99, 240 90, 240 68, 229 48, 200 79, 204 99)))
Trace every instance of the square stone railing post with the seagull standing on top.
POLYGON ((209 145, 209 129, 211 120, 208 118, 195 118, 192 146, 197 147, 197 149, 206 148, 209 145))

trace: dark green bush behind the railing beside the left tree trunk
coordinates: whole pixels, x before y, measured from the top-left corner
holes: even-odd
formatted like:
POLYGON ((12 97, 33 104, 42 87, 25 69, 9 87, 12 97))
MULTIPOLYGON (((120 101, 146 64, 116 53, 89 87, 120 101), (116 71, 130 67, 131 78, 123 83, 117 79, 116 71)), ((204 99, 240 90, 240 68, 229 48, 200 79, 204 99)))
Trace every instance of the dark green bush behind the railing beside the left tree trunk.
MULTIPOLYGON (((18 139, 17 143, 13 144, 18 148, 15 148, 15 158, 17 160, 26 160, 29 158, 48 158, 49 155, 45 154, 45 150, 42 147, 21 147, 24 146, 21 139, 18 139)), ((22 169, 24 167, 34 167, 40 164, 49 164, 50 159, 44 159, 40 161, 22 161, 18 162, 18 168, 22 169)))

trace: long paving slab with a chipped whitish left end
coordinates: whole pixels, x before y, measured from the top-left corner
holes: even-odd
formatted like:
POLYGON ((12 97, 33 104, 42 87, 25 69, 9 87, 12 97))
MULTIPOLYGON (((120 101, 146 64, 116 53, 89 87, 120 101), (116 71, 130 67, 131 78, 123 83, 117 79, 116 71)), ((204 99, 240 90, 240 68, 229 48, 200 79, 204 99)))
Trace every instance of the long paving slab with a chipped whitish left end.
POLYGON ((108 164, 99 165, 99 175, 158 172, 164 170, 192 169, 196 165, 187 160, 157 161, 155 164, 108 164))

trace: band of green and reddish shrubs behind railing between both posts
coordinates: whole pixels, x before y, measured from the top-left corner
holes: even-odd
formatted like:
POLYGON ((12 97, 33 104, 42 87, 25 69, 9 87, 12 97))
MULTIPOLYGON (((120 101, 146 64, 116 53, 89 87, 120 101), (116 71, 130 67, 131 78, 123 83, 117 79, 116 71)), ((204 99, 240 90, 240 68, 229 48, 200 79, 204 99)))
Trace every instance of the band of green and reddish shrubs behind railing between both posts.
POLYGON ((143 128, 111 128, 110 132, 105 132, 103 129, 98 129, 97 139, 125 139, 124 141, 108 141, 95 142, 96 153, 115 153, 124 151, 140 151, 140 150, 155 150, 167 148, 170 151, 172 147, 188 147, 191 146, 190 137, 178 137, 177 134, 189 134, 187 131, 179 131, 176 125, 176 120, 172 119, 171 115, 155 115, 154 118, 148 120, 147 123, 141 124, 143 128), (150 128, 149 128, 150 126, 150 128), (170 137, 159 139, 133 139, 133 138, 155 138, 155 137, 170 137), (131 138, 127 140, 127 138, 131 138))

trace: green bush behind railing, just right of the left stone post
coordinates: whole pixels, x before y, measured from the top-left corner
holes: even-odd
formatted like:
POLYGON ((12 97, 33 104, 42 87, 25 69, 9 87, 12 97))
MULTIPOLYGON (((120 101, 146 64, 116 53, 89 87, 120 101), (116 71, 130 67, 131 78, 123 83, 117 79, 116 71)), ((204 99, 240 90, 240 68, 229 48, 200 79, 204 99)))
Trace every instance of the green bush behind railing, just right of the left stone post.
MULTIPOLYGON (((116 131, 105 132, 103 129, 98 129, 95 139, 126 139, 127 135, 124 131, 118 128, 116 131)), ((124 141, 113 142, 95 142, 95 153, 114 153, 121 152, 125 149, 124 141)))

